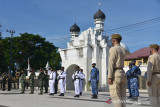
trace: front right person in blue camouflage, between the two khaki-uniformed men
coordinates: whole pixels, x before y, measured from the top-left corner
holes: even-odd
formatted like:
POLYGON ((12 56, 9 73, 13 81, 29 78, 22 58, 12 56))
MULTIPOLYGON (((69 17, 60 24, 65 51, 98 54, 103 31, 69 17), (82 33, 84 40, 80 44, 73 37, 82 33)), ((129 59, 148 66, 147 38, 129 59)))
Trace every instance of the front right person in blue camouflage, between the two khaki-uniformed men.
POLYGON ((138 66, 136 66, 135 63, 136 60, 132 60, 130 87, 131 87, 132 99, 134 101, 138 101, 139 97, 138 75, 141 75, 141 70, 138 66))

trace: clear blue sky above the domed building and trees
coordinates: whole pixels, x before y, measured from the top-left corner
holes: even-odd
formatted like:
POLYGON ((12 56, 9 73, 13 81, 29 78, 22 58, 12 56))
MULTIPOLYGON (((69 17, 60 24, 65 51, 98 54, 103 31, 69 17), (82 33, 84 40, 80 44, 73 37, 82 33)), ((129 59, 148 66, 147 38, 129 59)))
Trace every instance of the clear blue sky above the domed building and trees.
MULTIPOLYGON (((81 31, 94 27, 93 15, 99 9, 105 13, 105 31, 160 17, 160 0, 0 0, 2 36, 6 29, 46 37, 56 46, 65 48, 70 27, 76 23, 81 31), (60 39, 65 38, 65 39, 60 39)), ((131 52, 149 44, 160 45, 160 21, 132 29, 104 32, 119 33, 131 52)))

